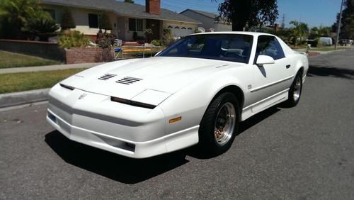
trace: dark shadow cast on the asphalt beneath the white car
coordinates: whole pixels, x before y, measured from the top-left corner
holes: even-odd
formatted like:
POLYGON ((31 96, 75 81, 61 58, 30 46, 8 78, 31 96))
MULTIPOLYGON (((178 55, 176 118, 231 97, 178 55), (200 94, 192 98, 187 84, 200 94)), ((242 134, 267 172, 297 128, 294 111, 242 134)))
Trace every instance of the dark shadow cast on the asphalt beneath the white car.
MULTIPOLYGON (((278 111, 280 111, 280 109, 275 106, 247 119, 240 124, 239 134, 244 133, 247 129, 255 126, 257 123, 278 111)), ((143 182, 144 180, 173 170, 176 167, 185 165, 189 162, 189 160, 185 159, 186 155, 197 159, 210 159, 215 157, 207 155, 205 152, 198 150, 197 146, 193 146, 185 150, 179 150, 156 157, 132 159, 76 143, 66 138, 57 130, 47 133, 45 135, 45 142, 62 160, 70 165, 125 184, 143 182)))

